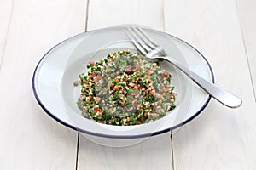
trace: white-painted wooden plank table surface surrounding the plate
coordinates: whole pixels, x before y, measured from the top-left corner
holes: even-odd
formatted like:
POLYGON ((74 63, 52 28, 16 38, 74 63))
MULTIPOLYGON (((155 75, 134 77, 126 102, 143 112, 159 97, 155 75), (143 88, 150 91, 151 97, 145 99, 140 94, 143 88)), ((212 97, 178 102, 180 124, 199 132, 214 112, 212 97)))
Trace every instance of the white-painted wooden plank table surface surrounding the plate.
POLYGON ((0 169, 256 169, 255 8, 254 0, 0 0, 0 169), (38 60, 67 37, 119 24, 189 42, 243 105, 212 99, 177 132, 119 149, 55 122, 32 94, 38 60))

